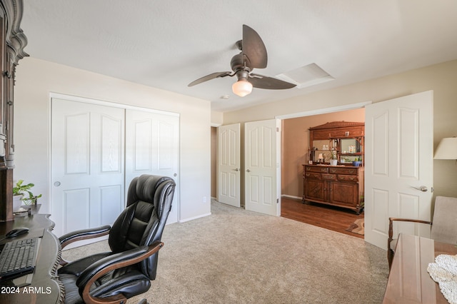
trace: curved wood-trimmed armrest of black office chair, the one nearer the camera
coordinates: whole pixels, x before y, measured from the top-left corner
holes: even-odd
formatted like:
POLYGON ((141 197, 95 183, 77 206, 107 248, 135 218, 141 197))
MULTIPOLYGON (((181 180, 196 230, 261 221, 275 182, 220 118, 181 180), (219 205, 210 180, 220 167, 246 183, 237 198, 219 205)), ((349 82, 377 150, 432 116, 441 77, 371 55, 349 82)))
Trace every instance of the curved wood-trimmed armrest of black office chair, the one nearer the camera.
POLYGON ((109 298, 93 298, 90 295, 90 288, 94 282, 100 278, 102 275, 109 273, 109 271, 123 268, 128 265, 136 264, 141 262, 154 253, 158 252, 164 243, 155 242, 150 246, 141 246, 131 250, 124 251, 122 253, 116 253, 114 255, 109 255, 106 258, 96 261, 96 263, 90 265, 86 268, 81 275, 79 275, 78 280, 76 280, 76 285, 79 288, 79 293, 81 298, 83 298, 84 303, 118 303, 119 300, 126 300, 124 295, 114 295, 109 298), (112 301, 112 302, 111 302, 112 301))

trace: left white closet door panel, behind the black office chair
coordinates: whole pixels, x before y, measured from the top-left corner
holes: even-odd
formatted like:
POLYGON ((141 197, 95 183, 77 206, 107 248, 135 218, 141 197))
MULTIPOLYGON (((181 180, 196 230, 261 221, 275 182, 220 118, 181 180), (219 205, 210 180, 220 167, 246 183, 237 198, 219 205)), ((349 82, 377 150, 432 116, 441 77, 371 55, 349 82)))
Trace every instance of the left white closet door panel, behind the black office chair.
POLYGON ((124 209, 124 109, 53 98, 51 219, 60 236, 124 209))

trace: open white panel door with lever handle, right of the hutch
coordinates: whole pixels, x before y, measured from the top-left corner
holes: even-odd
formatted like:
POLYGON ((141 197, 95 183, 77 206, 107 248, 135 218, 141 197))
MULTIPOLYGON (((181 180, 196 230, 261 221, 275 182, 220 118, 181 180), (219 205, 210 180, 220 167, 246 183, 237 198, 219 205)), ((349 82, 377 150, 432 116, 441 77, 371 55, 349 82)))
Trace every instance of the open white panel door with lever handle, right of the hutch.
MULTIPOLYGON (((433 91, 368 105, 365 119, 365 240, 386 249, 389 217, 431 220, 433 91)), ((394 235, 430 235, 428 225, 397 225, 394 235)))

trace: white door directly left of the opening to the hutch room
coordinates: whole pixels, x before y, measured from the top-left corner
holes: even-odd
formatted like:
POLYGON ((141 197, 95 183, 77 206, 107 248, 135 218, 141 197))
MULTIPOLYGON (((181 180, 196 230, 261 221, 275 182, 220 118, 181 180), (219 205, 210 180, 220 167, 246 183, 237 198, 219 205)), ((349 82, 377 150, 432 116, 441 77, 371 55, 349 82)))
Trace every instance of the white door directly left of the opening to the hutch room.
POLYGON ((244 125, 245 207, 271 216, 281 215, 278 130, 276 119, 244 125))

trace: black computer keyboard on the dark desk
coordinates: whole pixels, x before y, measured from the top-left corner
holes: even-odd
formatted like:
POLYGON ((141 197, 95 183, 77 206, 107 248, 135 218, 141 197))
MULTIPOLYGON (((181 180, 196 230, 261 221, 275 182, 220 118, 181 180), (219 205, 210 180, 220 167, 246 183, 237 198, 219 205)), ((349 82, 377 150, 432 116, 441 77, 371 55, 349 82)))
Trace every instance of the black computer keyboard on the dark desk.
POLYGON ((41 238, 13 240, 0 253, 0 280, 33 273, 41 238))

